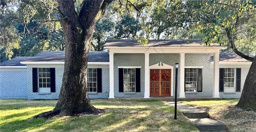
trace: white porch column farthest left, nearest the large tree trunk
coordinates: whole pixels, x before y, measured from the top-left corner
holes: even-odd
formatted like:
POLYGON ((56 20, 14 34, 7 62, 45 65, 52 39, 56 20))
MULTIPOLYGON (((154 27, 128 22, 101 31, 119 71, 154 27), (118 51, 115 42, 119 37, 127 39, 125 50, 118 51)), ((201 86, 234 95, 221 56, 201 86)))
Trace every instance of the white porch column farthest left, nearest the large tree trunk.
POLYGON ((109 99, 114 97, 114 53, 109 53, 109 99))

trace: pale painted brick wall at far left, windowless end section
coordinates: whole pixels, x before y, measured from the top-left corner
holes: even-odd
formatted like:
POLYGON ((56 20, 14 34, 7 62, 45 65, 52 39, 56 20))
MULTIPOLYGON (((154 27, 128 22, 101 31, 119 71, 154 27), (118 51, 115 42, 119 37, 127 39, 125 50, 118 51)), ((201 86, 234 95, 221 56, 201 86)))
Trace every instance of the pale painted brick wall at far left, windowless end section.
POLYGON ((0 99, 26 99, 27 71, 0 71, 0 99))

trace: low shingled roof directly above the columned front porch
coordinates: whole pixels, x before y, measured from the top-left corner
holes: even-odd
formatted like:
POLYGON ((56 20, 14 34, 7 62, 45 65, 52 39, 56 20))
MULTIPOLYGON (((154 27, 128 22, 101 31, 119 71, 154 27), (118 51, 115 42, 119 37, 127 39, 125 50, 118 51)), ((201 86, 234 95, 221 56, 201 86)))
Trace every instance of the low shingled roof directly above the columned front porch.
MULTIPOLYGON (((203 46, 200 39, 154 39, 149 40, 146 46, 203 46)), ((210 44, 211 46, 219 46, 217 43, 210 44)), ((104 46, 132 46, 140 47, 141 43, 138 43, 134 39, 108 39, 104 46)))

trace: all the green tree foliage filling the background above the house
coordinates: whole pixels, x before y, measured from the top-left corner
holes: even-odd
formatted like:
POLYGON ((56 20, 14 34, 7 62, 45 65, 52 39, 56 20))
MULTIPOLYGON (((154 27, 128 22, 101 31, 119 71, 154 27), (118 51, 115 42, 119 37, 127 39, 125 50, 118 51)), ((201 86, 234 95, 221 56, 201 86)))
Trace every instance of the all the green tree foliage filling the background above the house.
MULTIPOLYGON (((82 3, 76 0, 77 12, 82 3)), ((56 1, 3 0, 0 5, 1 61, 65 49, 56 1)), ((204 45, 230 47, 234 42, 237 49, 252 54, 255 11, 255 3, 249 0, 116 0, 96 23, 90 50, 104 50, 106 39, 137 39, 146 45, 148 39, 186 38, 202 39, 204 45)))

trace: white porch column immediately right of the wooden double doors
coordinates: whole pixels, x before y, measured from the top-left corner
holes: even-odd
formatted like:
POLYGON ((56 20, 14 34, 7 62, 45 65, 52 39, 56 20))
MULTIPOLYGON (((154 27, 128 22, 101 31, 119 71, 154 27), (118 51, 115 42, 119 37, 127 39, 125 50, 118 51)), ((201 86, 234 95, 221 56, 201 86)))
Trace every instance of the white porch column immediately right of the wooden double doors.
POLYGON ((180 53, 180 94, 179 98, 185 98, 185 53, 180 53))

